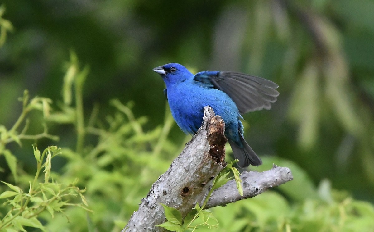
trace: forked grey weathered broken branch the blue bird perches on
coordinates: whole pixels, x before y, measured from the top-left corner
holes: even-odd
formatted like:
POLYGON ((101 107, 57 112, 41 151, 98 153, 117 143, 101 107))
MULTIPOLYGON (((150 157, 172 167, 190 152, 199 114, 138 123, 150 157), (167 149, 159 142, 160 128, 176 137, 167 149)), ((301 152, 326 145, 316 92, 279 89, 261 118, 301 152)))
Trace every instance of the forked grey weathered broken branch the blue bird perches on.
MULTIPOLYGON (((169 169, 152 185, 147 197, 142 199, 139 210, 132 214, 124 231, 166 231, 155 225, 165 221, 160 203, 178 209, 182 216, 199 203, 203 203, 212 179, 224 168, 225 144, 224 121, 214 116, 211 107, 204 109, 204 122, 182 153, 173 161, 169 169)), ((225 205, 237 200, 254 197, 266 189, 292 179, 288 168, 275 167, 266 172, 245 172, 243 180, 244 196, 237 193, 232 181, 216 189, 207 207, 225 205)))

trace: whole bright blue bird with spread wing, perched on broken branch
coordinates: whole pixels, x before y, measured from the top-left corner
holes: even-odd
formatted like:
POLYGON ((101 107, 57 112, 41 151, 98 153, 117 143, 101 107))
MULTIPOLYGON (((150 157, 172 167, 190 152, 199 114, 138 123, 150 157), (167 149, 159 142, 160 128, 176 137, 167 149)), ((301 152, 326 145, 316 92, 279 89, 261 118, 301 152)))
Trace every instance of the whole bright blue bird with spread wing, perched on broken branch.
POLYGON ((225 136, 240 167, 258 166, 261 159, 243 137, 241 114, 270 109, 279 93, 267 79, 229 71, 203 71, 193 75, 183 65, 169 63, 153 71, 165 82, 164 90, 175 122, 186 134, 200 128, 204 107, 210 106, 225 122, 225 136))

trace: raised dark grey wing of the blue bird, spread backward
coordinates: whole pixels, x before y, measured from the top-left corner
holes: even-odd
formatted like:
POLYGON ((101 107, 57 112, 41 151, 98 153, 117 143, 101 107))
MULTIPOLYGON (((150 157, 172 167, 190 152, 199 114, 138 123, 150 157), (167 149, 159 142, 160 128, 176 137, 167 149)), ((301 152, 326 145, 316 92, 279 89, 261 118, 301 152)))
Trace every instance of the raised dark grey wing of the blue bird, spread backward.
POLYGON ((195 81, 210 85, 232 98, 240 114, 256 110, 269 110, 279 95, 278 85, 257 76, 229 71, 203 71, 194 76, 195 81))

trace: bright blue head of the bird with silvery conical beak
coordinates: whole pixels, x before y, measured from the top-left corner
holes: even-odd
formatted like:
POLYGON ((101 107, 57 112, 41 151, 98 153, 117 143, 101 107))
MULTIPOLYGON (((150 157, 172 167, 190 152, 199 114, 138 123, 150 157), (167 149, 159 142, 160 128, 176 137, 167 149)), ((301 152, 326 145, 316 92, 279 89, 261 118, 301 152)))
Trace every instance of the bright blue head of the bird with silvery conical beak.
POLYGON ((153 71, 161 75, 166 87, 168 87, 168 85, 178 84, 194 77, 194 75, 188 71, 188 69, 177 63, 169 63, 159 66, 154 68, 153 71))

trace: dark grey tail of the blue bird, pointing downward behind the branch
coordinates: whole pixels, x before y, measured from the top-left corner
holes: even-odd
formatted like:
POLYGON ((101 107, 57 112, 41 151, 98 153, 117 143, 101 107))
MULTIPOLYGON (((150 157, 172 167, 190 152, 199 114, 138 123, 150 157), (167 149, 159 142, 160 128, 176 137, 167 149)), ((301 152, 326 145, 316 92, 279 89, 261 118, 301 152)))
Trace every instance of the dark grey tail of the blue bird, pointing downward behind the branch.
POLYGON ((243 144, 242 147, 237 145, 231 139, 228 139, 231 149, 233 150, 235 159, 239 160, 239 167, 248 167, 249 164, 258 166, 262 164, 261 159, 256 155, 256 153, 249 147, 248 143, 243 138, 243 135, 240 135, 240 142, 243 144))

